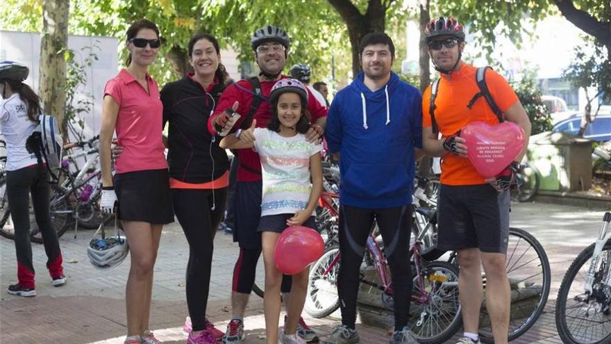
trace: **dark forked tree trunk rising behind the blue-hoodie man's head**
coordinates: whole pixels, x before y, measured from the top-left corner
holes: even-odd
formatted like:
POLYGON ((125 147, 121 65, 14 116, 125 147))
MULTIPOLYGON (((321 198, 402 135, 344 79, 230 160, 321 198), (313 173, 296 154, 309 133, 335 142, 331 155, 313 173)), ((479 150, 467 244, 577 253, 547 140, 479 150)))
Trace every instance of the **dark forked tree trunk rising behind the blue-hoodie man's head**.
POLYGON ((384 32, 386 10, 394 0, 369 0, 365 15, 350 0, 328 0, 331 6, 340 13, 348 28, 348 36, 352 47, 352 72, 355 78, 361 70, 359 45, 360 40, 371 32, 384 32))

